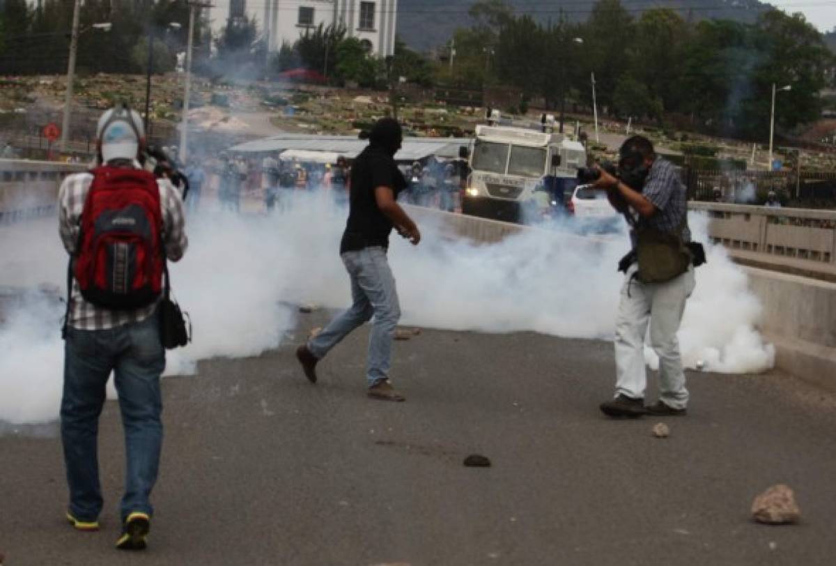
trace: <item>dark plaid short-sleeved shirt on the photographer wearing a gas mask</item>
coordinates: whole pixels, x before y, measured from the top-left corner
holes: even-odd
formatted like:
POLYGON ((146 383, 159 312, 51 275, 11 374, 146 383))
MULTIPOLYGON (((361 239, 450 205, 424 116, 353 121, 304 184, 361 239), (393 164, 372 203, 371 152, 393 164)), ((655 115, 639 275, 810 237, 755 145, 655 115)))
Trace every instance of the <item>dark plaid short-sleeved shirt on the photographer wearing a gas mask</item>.
MULTIPOLYGON (((688 213, 688 193, 679 167, 657 157, 650 166, 642 194, 656 207, 656 213, 652 217, 641 218, 640 222, 662 232, 675 232, 688 213)), ((691 230, 687 222, 682 230, 682 238, 691 242, 691 230)), ((635 245, 635 237, 633 239, 635 245)))

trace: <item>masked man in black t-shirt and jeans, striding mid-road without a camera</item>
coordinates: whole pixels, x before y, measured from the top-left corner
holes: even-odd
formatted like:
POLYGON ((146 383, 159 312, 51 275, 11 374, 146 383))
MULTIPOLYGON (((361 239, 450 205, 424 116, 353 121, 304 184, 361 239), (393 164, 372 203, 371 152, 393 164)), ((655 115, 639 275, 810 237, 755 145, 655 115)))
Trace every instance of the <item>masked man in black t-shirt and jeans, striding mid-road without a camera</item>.
POLYGON ((308 344, 296 350, 305 375, 316 383, 316 365, 329 350, 352 330, 375 317, 369 340, 366 380, 374 399, 405 400, 389 380, 392 339, 400 319, 395 278, 386 259, 389 234, 395 227, 417 245, 421 232, 398 205, 400 191, 406 188, 404 176, 393 157, 403 140, 396 120, 383 118, 375 123, 369 145, 354 160, 349 188, 349 220, 339 245, 340 258, 351 279, 354 303, 308 344))

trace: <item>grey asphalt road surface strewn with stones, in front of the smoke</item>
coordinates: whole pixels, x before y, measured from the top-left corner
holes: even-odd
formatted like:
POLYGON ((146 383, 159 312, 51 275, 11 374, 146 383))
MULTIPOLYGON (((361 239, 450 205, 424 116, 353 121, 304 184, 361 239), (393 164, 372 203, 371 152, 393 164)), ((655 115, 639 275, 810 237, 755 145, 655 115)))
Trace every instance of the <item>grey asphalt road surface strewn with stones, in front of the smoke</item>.
MULTIPOLYGON (((298 336, 327 313, 303 315, 298 336)), ((686 418, 610 421, 610 344, 425 330, 405 403, 364 396, 361 329, 304 380, 293 337, 165 380, 150 547, 113 547, 123 475, 108 403, 99 533, 64 523, 59 439, 0 436, 0 553, 18 564, 833 564, 836 398, 782 375, 691 374, 686 418), (466 468, 473 452, 492 468, 466 468), (752 523, 792 486, 803 521, 752 523)), ((23 376, 22 376, 23 379, 23 376)), ((35 436, 33 436, 35 435, 35 436)))

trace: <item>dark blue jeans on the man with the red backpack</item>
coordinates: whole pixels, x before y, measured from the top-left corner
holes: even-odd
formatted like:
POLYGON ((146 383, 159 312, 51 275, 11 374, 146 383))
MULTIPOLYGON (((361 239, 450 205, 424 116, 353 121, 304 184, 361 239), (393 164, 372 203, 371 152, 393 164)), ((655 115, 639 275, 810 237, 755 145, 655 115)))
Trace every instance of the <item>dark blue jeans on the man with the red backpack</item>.
POLYGON ((149 497, 162 448, 160 376, 166 350, 157 315, 115 329, 69 328, 64 345, 61 441, 69 484, 69 511, 94 521, 102 509, 97 436, 104 385, 111 370, 125 429, 125 496, 122 521, 133 511, 153 512, 149 497))

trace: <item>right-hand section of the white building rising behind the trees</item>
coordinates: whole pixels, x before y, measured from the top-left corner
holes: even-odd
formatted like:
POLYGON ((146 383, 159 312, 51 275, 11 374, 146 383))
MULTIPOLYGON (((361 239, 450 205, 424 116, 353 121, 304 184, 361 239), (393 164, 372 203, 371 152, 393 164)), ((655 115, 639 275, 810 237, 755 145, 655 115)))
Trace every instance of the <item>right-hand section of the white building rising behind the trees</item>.
POLYGON ((320 23, 343 23, 347 37, 368 42, 370 53, 387 57, 395 53, 397 12, 398 0, 264 0, 258 23, 271 51, 283 42, 293 45, 320 23))

